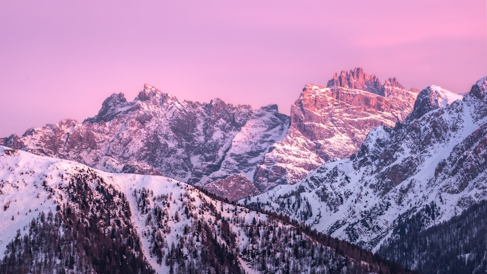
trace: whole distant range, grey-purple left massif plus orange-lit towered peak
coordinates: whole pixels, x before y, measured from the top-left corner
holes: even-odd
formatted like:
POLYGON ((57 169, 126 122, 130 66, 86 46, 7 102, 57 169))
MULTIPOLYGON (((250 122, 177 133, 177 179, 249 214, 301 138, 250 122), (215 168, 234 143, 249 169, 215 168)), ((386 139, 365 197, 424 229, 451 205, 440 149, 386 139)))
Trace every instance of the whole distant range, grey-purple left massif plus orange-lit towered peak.
POLYGON ((324 162, 349 157, 372 128, 403 121, 416 94, 395 78, 381 84, 356 68, 334 75, 327 88, 306 85, 289 117, 276 105, 252 110, 220 99, 180 102, 145 85, 131 102, 112 94, 82 123, 65 119, 30 128, 1 138, 0 145, 108 172, 212 183, 208 189, 238 200, 297 183, 324 162), (229 181, 248 191, 227 189, 229 181))

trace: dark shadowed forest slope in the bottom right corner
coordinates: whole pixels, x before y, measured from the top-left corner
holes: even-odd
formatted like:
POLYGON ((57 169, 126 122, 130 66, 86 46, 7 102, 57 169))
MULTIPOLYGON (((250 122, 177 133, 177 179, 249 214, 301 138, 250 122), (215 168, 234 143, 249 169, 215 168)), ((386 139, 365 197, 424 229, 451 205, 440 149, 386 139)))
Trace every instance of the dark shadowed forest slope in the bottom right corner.
MULTIPOLYGON (((434 208, 429 207, 430 214, 434 208)), ((400 224, 378 253, 420 273, 487 272, 487 201, 426 230, 422 218, 400 224)))

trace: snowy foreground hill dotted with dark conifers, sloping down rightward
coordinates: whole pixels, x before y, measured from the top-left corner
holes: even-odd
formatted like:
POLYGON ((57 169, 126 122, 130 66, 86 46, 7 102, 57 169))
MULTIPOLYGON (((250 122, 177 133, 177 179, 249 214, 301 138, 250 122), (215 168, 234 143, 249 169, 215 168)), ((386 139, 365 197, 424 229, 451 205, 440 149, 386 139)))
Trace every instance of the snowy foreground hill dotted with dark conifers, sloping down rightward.
POLYGON ((288 218, 161 176, 0 146, 0 182, 1 273, 402 272, 288 218))

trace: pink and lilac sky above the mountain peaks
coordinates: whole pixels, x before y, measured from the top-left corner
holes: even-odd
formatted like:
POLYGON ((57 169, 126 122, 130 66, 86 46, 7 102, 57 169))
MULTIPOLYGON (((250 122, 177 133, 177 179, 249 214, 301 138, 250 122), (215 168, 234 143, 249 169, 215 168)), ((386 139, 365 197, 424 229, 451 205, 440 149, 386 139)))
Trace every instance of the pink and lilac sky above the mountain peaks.
POLYGON ((466 92, 487 75, 486 13, 486 0, 2 0, 0 137, 83 121, 144 83, 286 114, 306 83, 354 67, 466 92))

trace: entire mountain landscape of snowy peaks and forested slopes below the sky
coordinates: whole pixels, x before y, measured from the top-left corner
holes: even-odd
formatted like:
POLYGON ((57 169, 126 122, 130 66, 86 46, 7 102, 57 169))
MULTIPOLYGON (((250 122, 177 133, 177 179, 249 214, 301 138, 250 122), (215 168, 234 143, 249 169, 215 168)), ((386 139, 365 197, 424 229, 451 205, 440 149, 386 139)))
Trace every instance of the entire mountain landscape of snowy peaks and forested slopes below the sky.
POLYGON ((356 68, 290 116, 146 84, 0 138, 0 166, 0 273, 487 269, 487 76, 456 94, 356 68))

